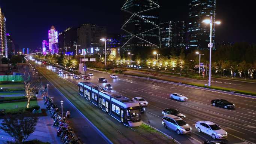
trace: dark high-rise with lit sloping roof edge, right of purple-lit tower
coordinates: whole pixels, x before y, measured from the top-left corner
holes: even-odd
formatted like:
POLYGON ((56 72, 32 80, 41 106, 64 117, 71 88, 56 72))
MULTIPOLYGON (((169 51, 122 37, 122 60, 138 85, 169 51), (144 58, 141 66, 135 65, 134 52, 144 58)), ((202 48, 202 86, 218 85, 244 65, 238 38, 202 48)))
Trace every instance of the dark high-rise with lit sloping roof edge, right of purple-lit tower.
MULTIPOLYGON (((59 33, 58 40, 59 40, 59 48, 62 49, 62 52, 66 52, 66 48, 67 48, 68 52, 73 52, 74 54, 76 54, 77 27, 69 27, 65 31, 59 33)), ((80 46, 77 45, 77 49, 79 48, 80 46)))

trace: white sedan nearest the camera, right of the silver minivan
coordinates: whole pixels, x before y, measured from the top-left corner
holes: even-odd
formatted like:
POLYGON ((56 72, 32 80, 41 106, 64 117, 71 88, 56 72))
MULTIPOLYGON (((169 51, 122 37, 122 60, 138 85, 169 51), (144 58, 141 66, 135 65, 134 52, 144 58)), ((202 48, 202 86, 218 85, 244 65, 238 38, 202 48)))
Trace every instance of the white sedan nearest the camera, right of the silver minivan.
POLYGON ((198 132, 203 132, 207 135, 210 135, 213 139, 223 139, 228 137, 228 133, 226 131, 210 121, 196 122, 195 128, 198 132))

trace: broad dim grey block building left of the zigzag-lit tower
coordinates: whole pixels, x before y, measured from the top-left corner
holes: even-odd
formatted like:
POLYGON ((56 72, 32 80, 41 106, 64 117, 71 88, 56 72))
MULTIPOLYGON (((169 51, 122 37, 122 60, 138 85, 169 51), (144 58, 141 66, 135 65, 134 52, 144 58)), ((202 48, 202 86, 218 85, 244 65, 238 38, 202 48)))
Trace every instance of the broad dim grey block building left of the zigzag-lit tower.
POLYGON ((77 28, 77 44, 79 51, 81 49, 102 49, 104 42, 100 39, 105 38, 107 33, 106 27, 100 27, 93 24, 82 24, 77 28))

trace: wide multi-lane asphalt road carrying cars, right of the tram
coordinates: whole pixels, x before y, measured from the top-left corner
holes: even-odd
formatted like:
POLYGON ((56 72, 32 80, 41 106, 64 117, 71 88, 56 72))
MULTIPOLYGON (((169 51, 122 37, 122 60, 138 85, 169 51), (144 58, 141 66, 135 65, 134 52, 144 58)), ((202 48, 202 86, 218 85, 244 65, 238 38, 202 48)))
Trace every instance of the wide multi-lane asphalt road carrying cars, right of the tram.
MULTIPOLYGON (((55 70, 58 72, 58 69, 55 70)), ((212 140, 208 135, 199 133, 195 129, 195 123, 201 120, 208 120, 217 123, 222 129, 228 132, 228 138, 222 140, 227 144, 252 144, 256 143, 256 98, 249 98, 237 95, 224 94, 220 92, 194 89, 168 83, 155 82, 152 80, 138 79, 134 77, 119 76, 118 79, 111 79, 110 74, 91 71, 94 76, 89 82, 100 86, 106 83, 99 83, 99 77, 108 79, 108 83, 113 86, 113 92, 133 98, 141 96, 149 102, 146 113, 142 114, 143 122, 170 135, 182 144, 199 144, 205 140, 212 140), (185 94, 189 99, 186 102, 179 102, 170 99, 171 93, 185 94), (236 105, 235 110, 227 110, 214 107, 210 104, 212 99, 227 99, 236 105), (163 108, 177 108, 186 115, 185 121, 192 127, 189 135, 177 135, 176 132, 165 129, 162 126, 163 108)), ((71 76, 64 79, 77 85, 83 79, 74 80, 71 76)))

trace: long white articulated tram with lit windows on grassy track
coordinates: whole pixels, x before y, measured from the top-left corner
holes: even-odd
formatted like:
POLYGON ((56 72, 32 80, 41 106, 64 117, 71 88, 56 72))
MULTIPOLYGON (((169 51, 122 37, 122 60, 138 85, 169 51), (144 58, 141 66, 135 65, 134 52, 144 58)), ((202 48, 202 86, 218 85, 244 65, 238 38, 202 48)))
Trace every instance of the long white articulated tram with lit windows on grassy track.
POLYGON ((140 126, 142 123, 138 102, 89 82, 79 82, 78 93, 126 126, 140 126))

